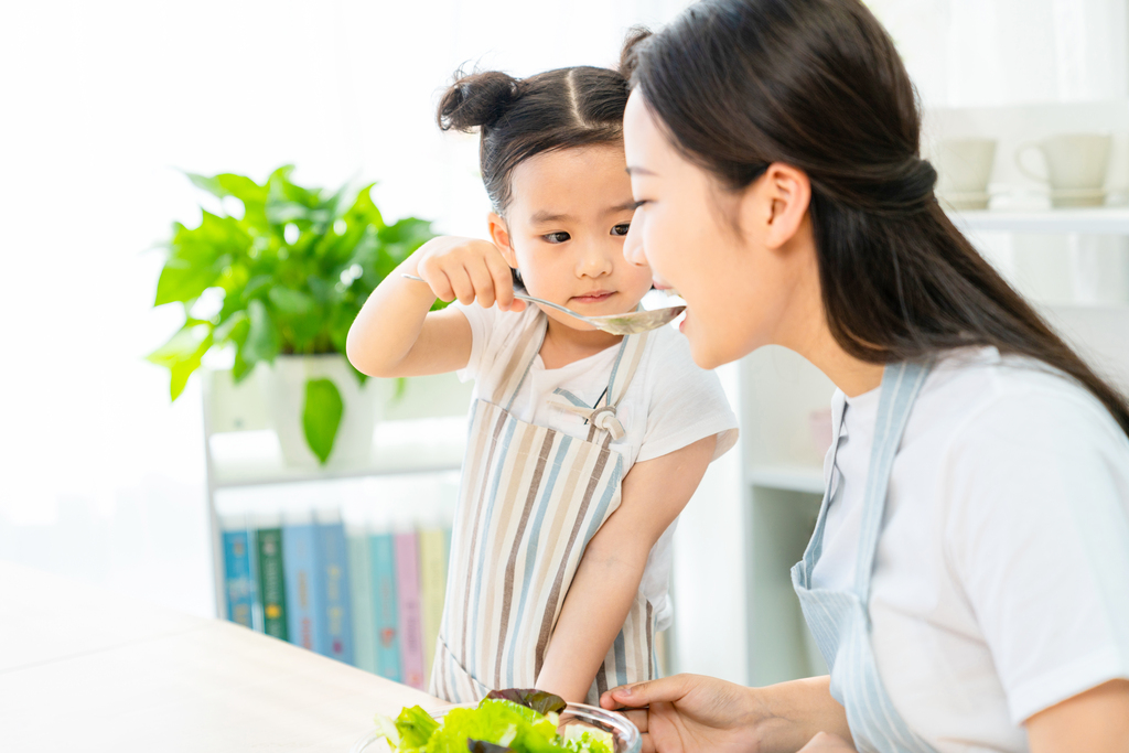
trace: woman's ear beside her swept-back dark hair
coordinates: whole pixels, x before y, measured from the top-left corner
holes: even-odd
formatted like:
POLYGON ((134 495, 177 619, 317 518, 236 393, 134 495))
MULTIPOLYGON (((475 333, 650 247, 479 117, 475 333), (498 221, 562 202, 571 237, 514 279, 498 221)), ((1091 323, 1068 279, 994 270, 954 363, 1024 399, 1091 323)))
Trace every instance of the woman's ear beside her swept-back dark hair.
POLYGON ((772 163, 741 199, 742 229, 768 248, 780 248, 795 237, 812 202, 807 174, 784 163, 772 163))

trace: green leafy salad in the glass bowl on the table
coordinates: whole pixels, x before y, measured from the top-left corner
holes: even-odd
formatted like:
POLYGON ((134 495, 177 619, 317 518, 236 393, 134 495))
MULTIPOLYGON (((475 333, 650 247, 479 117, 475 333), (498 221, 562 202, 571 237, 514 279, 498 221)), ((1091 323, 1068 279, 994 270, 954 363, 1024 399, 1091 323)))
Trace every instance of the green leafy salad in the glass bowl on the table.
POLYGON ((501 690, 441 719, 413 706, 395 719, 376 715, 376 725, 394 753, 615 753, 614 738, 603 729, 572 725, 559 734, 566 706, 552 693, 501 690))

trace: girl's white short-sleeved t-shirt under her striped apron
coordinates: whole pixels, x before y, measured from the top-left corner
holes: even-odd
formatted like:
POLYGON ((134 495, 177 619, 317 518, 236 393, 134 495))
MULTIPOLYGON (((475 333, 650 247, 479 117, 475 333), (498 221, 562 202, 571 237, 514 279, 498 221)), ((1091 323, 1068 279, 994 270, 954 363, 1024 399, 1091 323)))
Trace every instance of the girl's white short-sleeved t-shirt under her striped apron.
MULTIPOLYGON (((490 400, 516 345, 532 327, 540 326, 540 309, 530 306, 513 313, 478 305, 456 307, 470 322, 472 335, 471 358, 458 378, 475 380, 475 400, 490 400)), ((536 356, 510 412, 526 423, 587 438, 584 419, 552 404, 549 396, 559 392, 574 402, 595 405, 607 388, 619 350, 614 345, 559 369, 546 369, 541 356, 536 356)), ((639 368, 615 415, 627 434, 612 441, 611 448, 623 456, 624 475, 637 462, 660 457, 706 437, 717 436, 714 459, 737 441, 737 418, 717 375, 694 364, 685 338, 671 327, 659 327, 647 339, 639 368)), ((675 519, 651 549, 640 584, 655 608, 658 630, 671 624, 671 543, 676 525, 675 519)))

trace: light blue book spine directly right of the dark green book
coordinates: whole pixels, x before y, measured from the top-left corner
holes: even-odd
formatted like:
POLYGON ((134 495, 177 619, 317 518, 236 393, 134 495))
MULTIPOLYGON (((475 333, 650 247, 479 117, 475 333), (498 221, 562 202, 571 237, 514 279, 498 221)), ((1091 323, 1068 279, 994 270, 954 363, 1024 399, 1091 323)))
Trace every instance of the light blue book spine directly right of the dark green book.
POLYGON ((325 649, 325 614, 317 577, 317 527, 283 525, 282 560, 286 572, 287 632, 290 642, 314 651, 325 649))

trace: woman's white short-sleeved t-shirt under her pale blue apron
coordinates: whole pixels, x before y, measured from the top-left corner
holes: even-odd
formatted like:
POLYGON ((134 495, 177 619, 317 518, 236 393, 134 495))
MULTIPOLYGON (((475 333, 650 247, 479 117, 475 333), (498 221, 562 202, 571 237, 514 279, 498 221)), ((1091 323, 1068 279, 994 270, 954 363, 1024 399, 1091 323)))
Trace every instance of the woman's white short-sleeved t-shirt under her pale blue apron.
MULTIPOLYGON (((879 393, 834 397, 842 489, 815 587, 854 585, 879 393)), ((943 359, 894 459, 869 612, 878 673, 913 730, 942 753, 1027 751, 1033 713, 1129 678, 1129 438, 1033 361, 943 359)))

